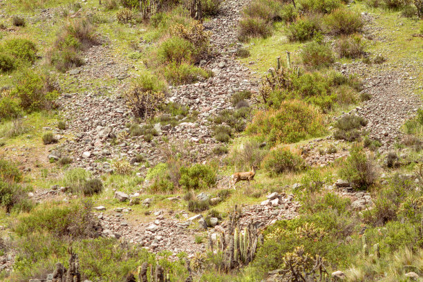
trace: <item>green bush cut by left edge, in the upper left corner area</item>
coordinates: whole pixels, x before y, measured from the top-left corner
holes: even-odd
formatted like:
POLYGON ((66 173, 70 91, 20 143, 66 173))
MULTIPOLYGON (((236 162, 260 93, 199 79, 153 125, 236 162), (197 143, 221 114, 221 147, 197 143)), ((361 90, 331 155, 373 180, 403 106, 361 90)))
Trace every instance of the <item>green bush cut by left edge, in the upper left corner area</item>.
POLYGON ((30 62, 31 64, 37 59, 37 47, 34 42, 28 39, 9 39, 4 42, 3 51, 17 59, 21 59, 23 62, 30 62))

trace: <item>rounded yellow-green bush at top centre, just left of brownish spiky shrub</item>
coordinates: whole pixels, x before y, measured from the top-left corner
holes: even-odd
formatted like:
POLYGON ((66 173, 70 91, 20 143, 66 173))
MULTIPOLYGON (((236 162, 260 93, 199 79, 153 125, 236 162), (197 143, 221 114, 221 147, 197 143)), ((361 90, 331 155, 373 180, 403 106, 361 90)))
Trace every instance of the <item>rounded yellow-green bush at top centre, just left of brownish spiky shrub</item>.
POLYGON ((180 37, 170 37, 158 47, 158 57, 162 63, 193 62, 195 53, 194 44, 180 37))

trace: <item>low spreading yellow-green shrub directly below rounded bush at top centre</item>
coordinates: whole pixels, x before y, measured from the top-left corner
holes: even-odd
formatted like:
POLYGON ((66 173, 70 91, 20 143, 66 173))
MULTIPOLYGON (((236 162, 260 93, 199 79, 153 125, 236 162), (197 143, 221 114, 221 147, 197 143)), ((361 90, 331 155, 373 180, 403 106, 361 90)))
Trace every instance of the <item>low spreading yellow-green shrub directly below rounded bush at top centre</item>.
POLYGON ((198 77, 209 78, 210 73, 187 63, 171 62, 164 68, 164 77, 174 85, 190 84, 198 81, 198 77))

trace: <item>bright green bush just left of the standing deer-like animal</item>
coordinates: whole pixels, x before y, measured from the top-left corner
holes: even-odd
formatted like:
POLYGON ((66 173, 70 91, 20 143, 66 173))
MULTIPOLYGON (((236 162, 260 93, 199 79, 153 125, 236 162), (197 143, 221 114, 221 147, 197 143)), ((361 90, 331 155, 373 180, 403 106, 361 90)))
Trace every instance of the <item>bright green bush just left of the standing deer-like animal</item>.
POLYGON ((180 168, 179 184, 182 189, 207 189, 216 184, 216 171, 205 164, 180 168))

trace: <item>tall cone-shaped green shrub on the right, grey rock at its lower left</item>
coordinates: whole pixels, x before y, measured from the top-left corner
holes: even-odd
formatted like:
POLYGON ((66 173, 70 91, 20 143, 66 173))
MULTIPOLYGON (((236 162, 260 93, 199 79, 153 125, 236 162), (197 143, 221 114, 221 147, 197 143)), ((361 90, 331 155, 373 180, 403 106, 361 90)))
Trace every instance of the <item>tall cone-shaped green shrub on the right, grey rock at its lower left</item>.
POLYGON ((366 156, 363 148, 355 144, 339 170, 339 176, 352 183, 356 189, 368 189, 377 180, 375 165, 373 160, 366 156))

